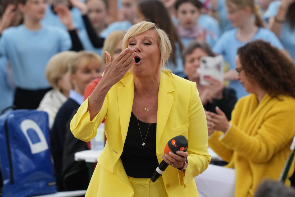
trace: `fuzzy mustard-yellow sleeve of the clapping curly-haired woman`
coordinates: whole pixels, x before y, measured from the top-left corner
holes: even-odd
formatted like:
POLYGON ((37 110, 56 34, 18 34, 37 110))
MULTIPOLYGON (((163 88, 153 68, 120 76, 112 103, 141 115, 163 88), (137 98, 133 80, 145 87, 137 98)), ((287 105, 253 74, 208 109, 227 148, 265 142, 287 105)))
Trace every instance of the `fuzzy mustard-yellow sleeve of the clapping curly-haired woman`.
POLYGON ((232 124, 220 142, 253 163, 268 162, 295 135, 294 102, 279 102, 267 114, 254 136, 232 124))

